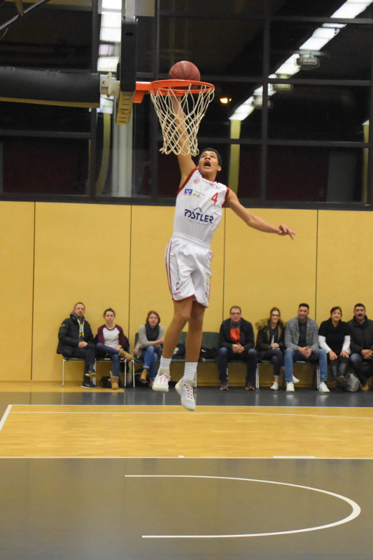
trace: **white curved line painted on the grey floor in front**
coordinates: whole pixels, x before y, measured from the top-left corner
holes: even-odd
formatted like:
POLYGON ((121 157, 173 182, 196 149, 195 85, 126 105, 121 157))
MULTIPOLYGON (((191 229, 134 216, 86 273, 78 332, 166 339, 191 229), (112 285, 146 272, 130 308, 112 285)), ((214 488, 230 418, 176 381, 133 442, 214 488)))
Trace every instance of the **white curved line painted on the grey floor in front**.
POLYGON ((300 484, 291 484, 290 482, 276 482, 273 480, 260 480, 251 478, 238 478, 238 477, 212 477, 199 474, 125 474, 125 477, 141 477, 141 478, 206 478, 206 479, 220 479, 220 480, 239 480, 245 482, 264 482, 265 484, 278 484, 279 486, 292 486, 293 488, 302 488, 306 490, 312 490, 314 492, 320 492, 323 494, 328 494, 328 496, 333 496, 334 498, 339 498, 344 502, 348 503, 352 507, 352 512, 349 516, 344 517, 344 519, 339 519, 334 523, 328 523, 326 525, 319 525, 316 527, 307 527, 304 529, 293 529, 291 531, 276 531, 273 533, 244 533, 239 535, 141 535, 142 538, 243 538, 243 537, 269 537, 273 535, 291 535, 294 533, 308 533, 310 531, 320 531, 321 529, 327 529, 330 527, 336 527, 337 525, 342 525, 344 523, 349 523, 358 515, 360 515, 360 506, 346 498, 346 496, 341 496, 334 492, 329 492, 328 490, 321 490, 318 488, 312 488, 311 486, 302 486, 300 484))

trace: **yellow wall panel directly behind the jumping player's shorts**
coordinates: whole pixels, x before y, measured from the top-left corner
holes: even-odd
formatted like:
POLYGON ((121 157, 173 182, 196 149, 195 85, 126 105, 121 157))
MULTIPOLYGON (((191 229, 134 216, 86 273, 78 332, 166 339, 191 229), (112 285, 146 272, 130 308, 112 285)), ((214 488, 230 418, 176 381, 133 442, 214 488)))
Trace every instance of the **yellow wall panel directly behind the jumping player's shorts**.
MULTIPOLYGON (((156 310, 167 329, 174 306, 169 293, 164 252, 172 234, 174 207, 134 206, 132 208, 130 342, 150 309, 156 310)), ((223 308, 224 219, 216 231, 213 245, 211 298, 206 310, 204 330, 216 330, 223 308)))

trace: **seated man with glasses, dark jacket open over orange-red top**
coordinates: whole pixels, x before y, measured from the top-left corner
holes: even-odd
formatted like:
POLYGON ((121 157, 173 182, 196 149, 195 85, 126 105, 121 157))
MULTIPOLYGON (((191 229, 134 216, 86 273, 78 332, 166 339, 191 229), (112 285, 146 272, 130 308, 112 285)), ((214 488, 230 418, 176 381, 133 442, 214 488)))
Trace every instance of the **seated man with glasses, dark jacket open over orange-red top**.
POLYGON ((255 390, 255 372, 258 353, 254 350, 254 330, 251 322, 242 318, 241 308, 230 308, 230 319, 223 321, 219 333, 218 373, 220 390, 228 390, 227 365, 233 360, 244 360, 246 366, 246 390, 255 390))

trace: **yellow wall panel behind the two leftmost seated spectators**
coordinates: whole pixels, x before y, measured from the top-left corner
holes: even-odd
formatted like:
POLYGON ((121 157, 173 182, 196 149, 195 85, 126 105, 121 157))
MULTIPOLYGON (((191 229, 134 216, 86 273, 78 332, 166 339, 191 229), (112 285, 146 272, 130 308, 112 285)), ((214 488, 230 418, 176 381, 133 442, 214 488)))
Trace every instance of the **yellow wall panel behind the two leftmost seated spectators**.
MULTIPOLYGON (((130 206, 36 204, 33 380, 61 380, 57 333, 77 301, 93 334, 108 307, 127 334, 130 233, 130 206)), ((83 378, 81 364, 68 371, 83 378)))

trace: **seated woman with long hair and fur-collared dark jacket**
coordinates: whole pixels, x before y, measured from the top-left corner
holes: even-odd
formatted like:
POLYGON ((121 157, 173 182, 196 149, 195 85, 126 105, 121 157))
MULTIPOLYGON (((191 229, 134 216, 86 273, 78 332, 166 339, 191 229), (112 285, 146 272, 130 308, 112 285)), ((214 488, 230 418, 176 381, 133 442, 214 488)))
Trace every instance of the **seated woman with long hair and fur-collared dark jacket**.
POLYGON ((272 307, 269 318, 255 323, 258 329, 255 350, 258 352, 258 360, 271 362, 274 371, 274 383, 272 391, 279 389, 279 377, 283 367, 283 350, 285 325, 281 321, 281 311, 278 307, 272 307))

